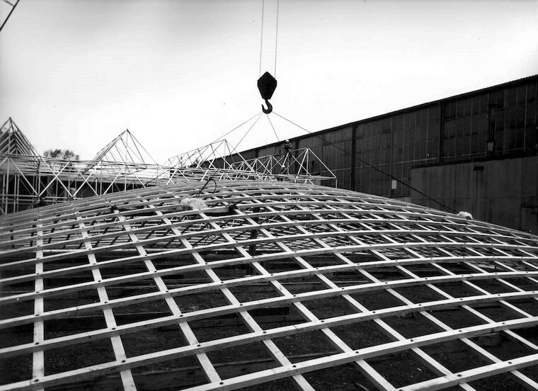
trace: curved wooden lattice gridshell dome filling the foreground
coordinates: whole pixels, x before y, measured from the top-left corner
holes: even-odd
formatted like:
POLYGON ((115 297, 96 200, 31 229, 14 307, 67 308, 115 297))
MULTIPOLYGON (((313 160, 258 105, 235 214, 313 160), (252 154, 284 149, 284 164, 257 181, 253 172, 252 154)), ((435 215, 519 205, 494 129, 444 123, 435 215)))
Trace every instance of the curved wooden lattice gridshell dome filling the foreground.
POLYGON ((1 218, 0 391, 538 389, 538 237, 324 186, 202 186, 1 218))

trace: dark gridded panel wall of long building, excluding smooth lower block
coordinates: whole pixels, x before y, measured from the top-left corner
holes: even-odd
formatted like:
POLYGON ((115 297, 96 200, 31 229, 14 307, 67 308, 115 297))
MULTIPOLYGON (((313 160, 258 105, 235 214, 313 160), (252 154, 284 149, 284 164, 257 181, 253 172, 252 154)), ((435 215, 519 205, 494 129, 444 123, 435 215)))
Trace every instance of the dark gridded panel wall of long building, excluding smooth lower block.
MULTIPOLYGON (((408 198, 413 167, 536 154, 537 82, 538 75, 291 141, 317 154, 338 176, 339 187, 408 198), (394 176, 396 188, 377 169, 394 176)), ((253 150, 279 154, 280 145, 253 150)))

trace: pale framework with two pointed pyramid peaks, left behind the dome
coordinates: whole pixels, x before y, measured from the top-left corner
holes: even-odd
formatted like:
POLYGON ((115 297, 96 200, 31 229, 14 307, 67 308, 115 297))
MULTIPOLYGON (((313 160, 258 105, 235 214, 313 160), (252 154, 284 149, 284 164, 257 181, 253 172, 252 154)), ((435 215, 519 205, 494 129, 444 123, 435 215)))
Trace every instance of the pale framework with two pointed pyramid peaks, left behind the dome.
POLYGON ((9 118, 0 132, 0 214, 162 183, 156 164, 128 130, 91 161, 42 157, 9 118))

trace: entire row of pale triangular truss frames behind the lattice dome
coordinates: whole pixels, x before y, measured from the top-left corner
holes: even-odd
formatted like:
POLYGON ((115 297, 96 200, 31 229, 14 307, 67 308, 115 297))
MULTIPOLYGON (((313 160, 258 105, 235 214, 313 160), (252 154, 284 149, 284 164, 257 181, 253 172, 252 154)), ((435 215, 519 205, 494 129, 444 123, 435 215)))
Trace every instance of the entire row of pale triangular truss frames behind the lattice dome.
POLYGON ((276 172, 276 158, 246 162, 226 140, 185 152, 161 165, 132 132, 125 130, 91 161, 53 159, 40 156, 9 118, 0 129, 0 214, 25 210, 37 203, 60 203, 162 183, 207 181, 210 178, 336 183, 336 176, 328 169, 328 176, 308 172, 308 158, 315 157, 313 152, 302 150, 298 153, 301 161, 297 159, 297 153, 289 159, 297 174, 290 174, 289 170, 276 172))

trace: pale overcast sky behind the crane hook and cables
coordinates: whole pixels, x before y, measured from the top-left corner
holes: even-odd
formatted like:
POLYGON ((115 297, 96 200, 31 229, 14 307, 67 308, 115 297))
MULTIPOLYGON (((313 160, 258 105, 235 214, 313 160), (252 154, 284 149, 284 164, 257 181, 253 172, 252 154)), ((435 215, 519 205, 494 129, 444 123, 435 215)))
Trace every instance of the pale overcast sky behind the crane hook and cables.
MULTIPOLYGON (((262 0, 21 0, 0 121, 81 159, 126 128, 157 162, 206 145, 261 111, 276 5, 261 40, 262 0)), ((271 102, 311 131, 538 74, 538 0, 280 0, 278 16, 271 102)), ((270 118, 280 140, 303 134, 270 118)), ((239 149, 275 141, 263 115, 239 149)))

